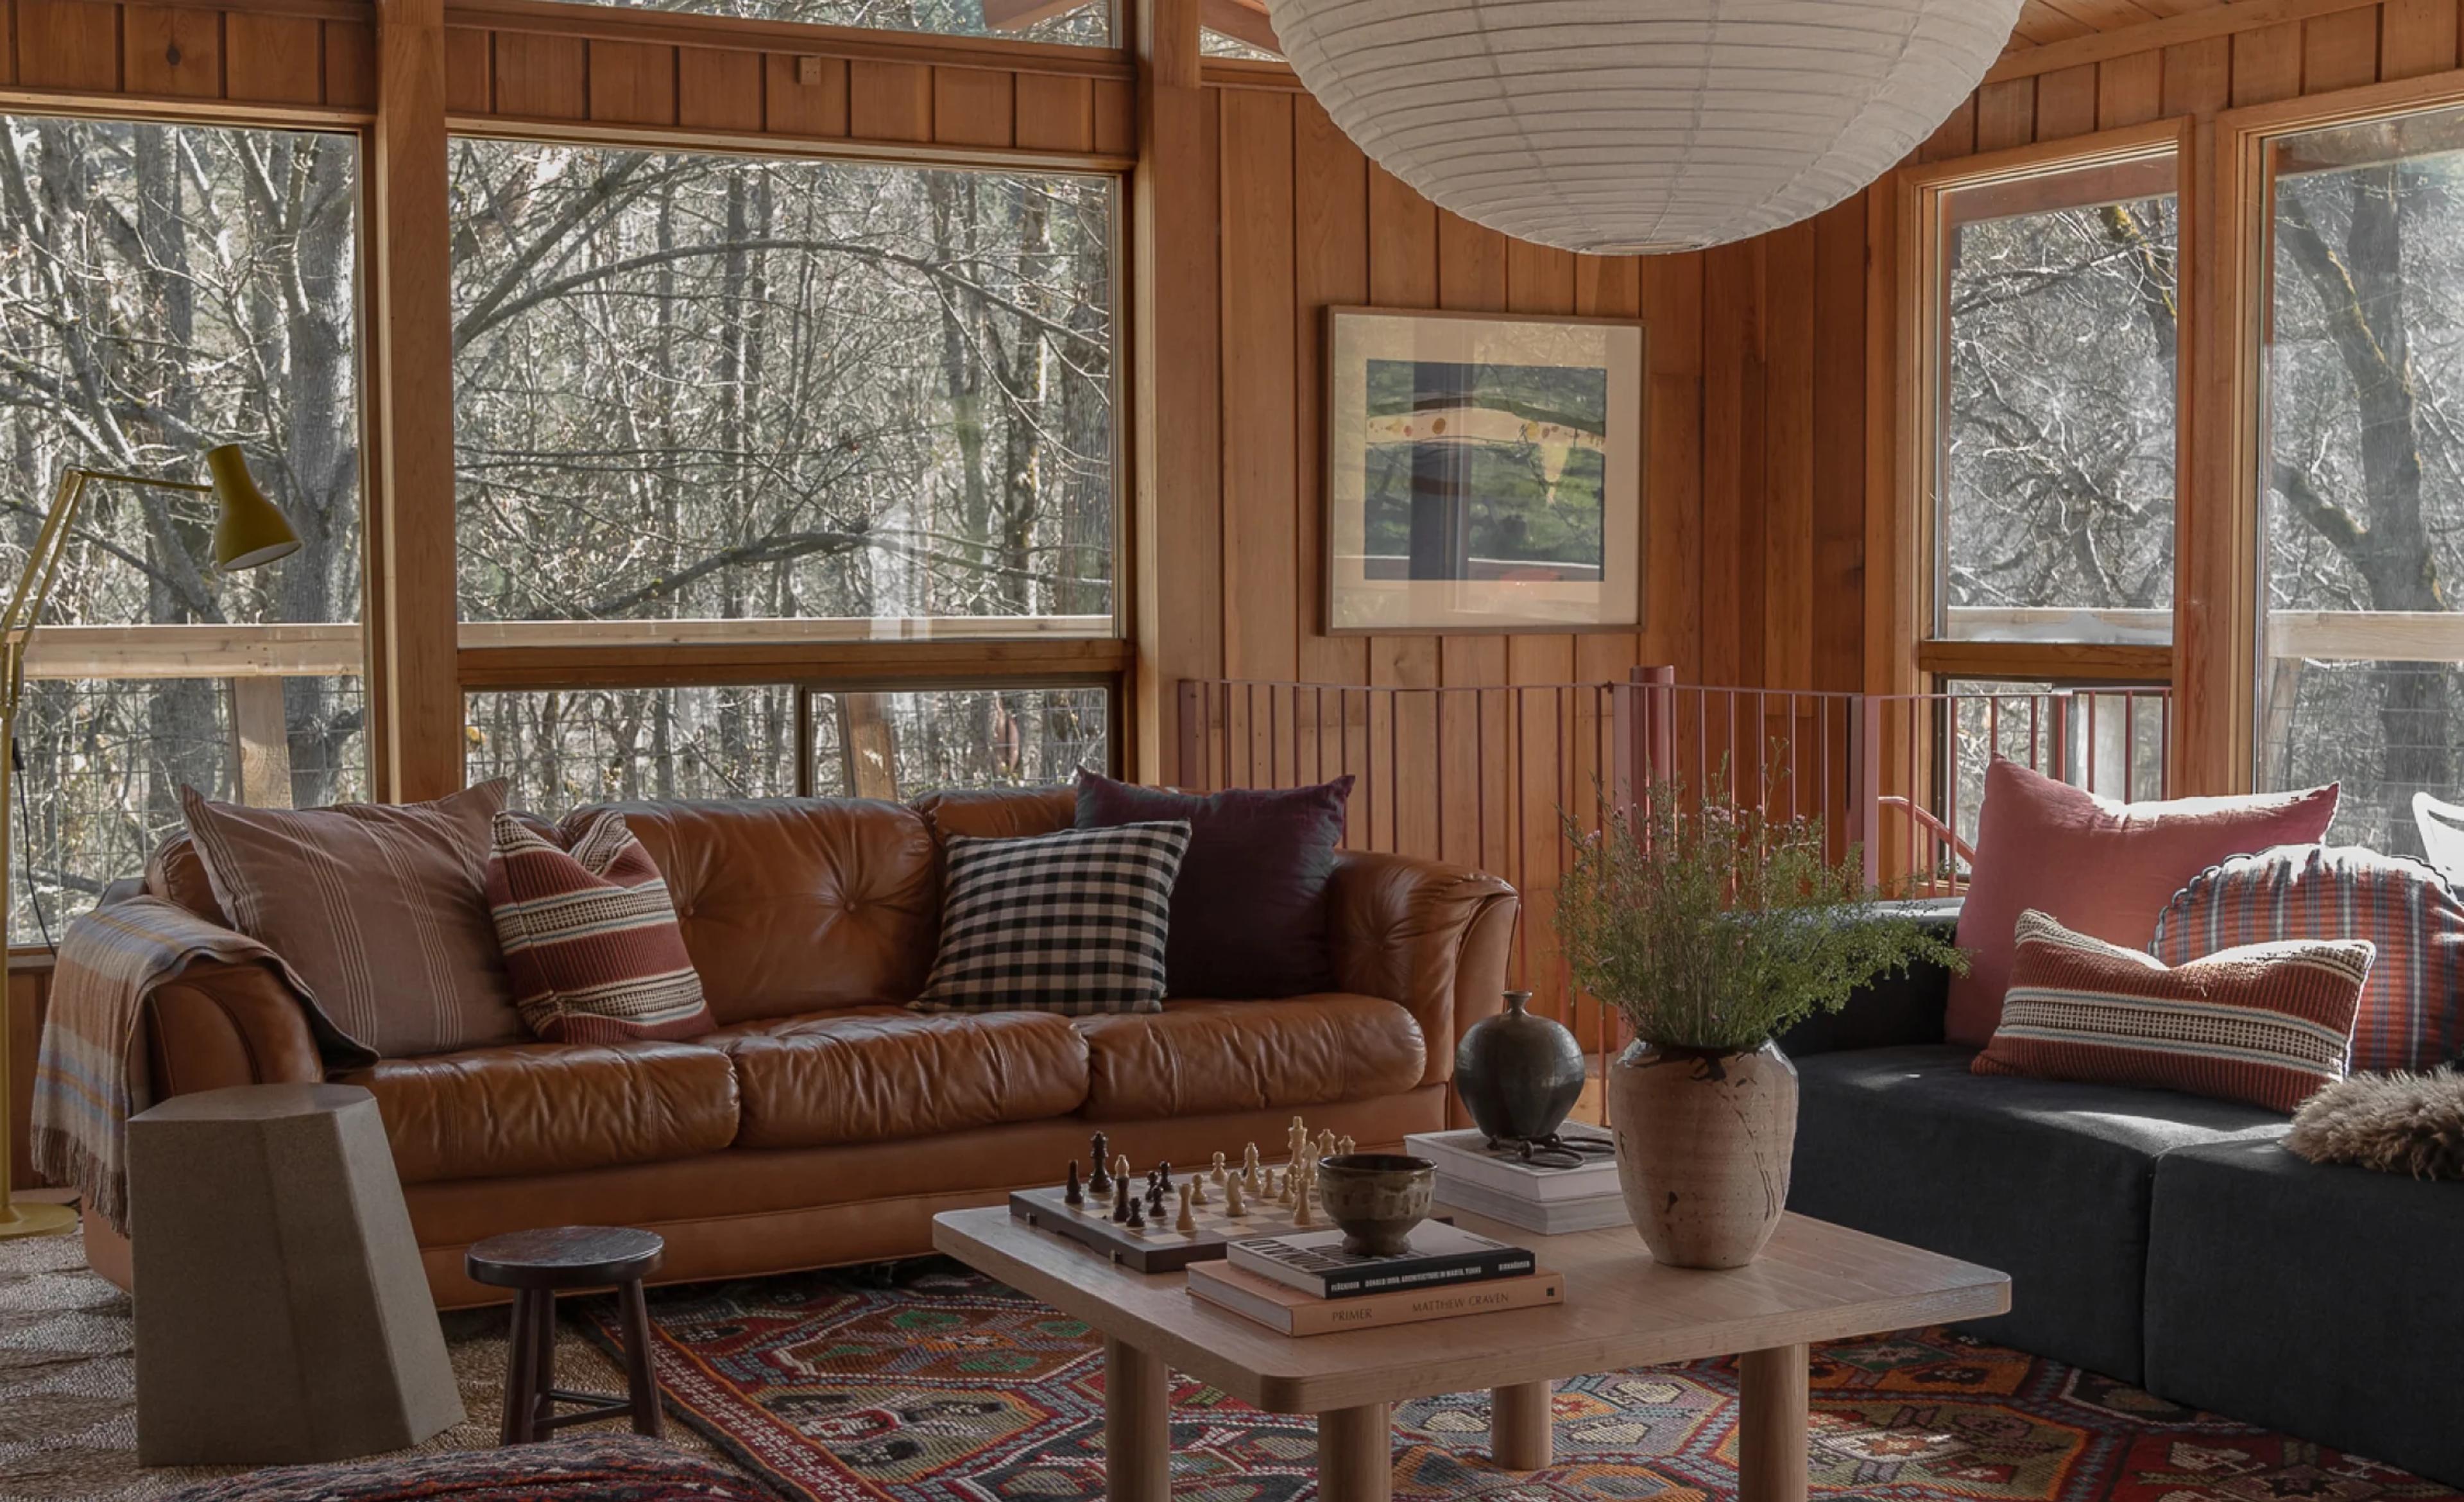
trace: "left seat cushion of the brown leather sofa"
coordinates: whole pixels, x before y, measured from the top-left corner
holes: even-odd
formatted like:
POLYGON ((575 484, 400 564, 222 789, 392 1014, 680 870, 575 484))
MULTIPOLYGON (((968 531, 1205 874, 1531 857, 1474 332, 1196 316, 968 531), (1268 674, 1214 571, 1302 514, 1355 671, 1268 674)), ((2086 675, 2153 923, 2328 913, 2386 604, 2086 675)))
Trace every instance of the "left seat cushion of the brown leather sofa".
POLYGON ((737 1137, 734 1070, 702 1043, 515 1043, 335 1078, 375 1093, 404 1184, 655 1164, 737 1137))

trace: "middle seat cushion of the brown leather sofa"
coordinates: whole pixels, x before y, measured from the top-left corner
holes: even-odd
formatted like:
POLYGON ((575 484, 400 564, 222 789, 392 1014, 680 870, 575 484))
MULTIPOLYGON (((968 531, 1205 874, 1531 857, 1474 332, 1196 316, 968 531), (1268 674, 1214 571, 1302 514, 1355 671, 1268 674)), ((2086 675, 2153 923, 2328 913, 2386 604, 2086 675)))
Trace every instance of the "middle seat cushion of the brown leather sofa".
POLYGON ((737 1065, 737 1147, 902 1142, 1064 1117, 1087 1100, 1087 1041, 1050 1011, 867 1006, 702 1041, 737 1065))

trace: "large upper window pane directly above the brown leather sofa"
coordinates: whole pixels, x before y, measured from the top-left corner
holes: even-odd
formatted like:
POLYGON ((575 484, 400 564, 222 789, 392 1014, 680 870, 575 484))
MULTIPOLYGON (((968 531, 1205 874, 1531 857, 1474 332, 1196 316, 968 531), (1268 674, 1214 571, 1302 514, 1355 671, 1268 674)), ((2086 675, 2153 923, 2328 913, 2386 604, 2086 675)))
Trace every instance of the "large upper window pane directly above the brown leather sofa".
POLYGON ((463 619, 1114 634, 1114 197, 456 141, 463 619))

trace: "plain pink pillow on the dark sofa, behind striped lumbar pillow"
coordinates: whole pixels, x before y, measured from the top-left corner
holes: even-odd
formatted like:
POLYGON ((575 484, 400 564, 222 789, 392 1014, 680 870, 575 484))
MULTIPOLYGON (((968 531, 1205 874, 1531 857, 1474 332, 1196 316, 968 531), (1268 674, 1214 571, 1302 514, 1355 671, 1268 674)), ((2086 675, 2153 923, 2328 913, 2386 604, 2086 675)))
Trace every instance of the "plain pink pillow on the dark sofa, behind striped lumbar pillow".
POLYGON ((1951 977, 1944 1036, 1984 1048, 2011 987, 2011 930, 2035 908, 2072 932, 2146 950, 2193 876, 2267 846, 2306 846, 2336 819, 2336 784, 2235 799, 2117 804, 2006 762, 1986 767, 1976 873, 1959 910, 1969 974, 1951 977))

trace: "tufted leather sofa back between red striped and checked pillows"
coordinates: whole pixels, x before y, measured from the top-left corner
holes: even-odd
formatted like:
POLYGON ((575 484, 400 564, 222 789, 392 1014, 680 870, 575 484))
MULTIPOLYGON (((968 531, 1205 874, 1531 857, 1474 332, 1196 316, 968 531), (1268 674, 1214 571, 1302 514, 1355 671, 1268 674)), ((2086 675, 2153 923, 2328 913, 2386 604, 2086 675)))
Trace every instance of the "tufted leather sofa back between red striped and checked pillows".
POLYGON ((941 940, 924 816, 867 799, 614 804, 668 878, 719 1024, 907 1001, 941 940))

